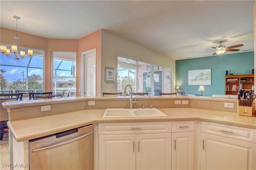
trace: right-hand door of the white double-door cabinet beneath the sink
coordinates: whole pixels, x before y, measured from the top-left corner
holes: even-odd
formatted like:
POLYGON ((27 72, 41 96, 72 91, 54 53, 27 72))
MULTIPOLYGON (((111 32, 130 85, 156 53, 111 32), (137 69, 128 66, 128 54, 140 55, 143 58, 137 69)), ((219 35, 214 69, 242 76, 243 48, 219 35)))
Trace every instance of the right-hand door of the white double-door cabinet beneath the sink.
POLYGON ((136 170, 170 170, 171 139, 171 133, 136 135, 136 170))

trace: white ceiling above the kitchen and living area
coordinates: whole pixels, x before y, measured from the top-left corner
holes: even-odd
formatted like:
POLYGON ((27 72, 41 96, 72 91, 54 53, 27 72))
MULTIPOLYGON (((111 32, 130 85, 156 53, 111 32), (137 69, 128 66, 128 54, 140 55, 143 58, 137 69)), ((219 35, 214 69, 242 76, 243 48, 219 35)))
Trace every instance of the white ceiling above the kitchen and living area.
MULTIPOLYGON (((46 38, 80 39, 106 29, 174 60, 211 56, 211 47, 253 51, 254 0, 0 0, 1 27, 46 38), (202 53, 207 52, 208 53, 202 53)), ((226 52, 231 54, 235 52, 226 52)))

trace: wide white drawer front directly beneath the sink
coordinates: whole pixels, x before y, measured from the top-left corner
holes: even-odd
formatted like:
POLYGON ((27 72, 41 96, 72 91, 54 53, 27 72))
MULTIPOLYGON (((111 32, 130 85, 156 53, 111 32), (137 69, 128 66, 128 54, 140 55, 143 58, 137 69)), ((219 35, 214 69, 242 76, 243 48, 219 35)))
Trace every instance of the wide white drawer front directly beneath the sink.
POLYGON ((99 135, 171 133, 172 122, 99 123, 99 135))

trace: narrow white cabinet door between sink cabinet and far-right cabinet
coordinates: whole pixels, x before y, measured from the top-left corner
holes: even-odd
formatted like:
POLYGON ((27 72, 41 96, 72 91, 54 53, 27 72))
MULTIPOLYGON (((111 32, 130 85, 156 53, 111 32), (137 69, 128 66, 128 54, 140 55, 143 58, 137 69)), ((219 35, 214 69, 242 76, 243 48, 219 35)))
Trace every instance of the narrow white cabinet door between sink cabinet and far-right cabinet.
POLYGON ((194 132, 172 133, 172 169, 194 169, 194 132))

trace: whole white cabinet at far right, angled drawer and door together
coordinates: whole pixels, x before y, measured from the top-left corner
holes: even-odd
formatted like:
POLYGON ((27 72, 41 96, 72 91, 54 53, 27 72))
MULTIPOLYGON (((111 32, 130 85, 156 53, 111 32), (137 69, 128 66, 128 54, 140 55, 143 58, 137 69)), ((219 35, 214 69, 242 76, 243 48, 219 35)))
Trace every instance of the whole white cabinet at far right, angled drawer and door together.
POLYGON ((255 129, 202 122, 201 169, 255 170, 255 129))

